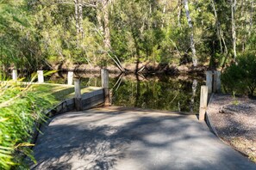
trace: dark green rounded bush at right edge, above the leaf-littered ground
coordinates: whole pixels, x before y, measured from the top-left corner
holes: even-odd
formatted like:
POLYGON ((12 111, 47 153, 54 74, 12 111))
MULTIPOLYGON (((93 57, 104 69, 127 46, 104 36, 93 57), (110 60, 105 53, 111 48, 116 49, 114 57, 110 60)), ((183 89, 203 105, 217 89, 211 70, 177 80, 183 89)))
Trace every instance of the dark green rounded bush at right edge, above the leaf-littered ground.
POLYGON ((256 88, 256 56, 242 55, 237 64, 230 65, 222 74, 224 88, 236 94, 253 95, 256 88))

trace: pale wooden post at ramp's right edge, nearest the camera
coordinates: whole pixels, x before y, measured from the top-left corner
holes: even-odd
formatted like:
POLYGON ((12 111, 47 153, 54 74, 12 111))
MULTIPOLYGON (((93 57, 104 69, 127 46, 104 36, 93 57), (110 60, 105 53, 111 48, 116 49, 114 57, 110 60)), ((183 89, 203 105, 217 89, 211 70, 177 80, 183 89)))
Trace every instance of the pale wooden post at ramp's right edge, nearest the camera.
POLYGON ((204 120, 205 112, 207 109, 207 96, 208 96, 208 87, 201 86, 201 95, 200 95, 200 108, 199 108, 199 120, 204 120))

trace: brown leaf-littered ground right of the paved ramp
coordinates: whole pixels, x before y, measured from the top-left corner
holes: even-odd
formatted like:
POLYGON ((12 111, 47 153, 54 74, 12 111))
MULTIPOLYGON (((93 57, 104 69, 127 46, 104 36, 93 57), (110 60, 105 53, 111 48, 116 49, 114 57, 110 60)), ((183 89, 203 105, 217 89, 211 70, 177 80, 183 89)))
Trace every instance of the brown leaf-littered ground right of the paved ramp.
POLYGON ((208 115, 224 142, 256 162, 256 100, 215 94, 208 115))

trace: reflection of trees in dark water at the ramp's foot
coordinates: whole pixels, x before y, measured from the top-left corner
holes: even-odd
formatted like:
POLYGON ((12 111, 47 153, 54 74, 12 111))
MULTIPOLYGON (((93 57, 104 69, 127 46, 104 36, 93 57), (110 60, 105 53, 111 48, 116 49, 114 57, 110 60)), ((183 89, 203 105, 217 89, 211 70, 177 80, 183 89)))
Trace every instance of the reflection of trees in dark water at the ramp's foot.
MULTIPOLYGON (((120 80, 111 79, 111 82, 120 80)), ((172 76, 122 76, 118 88, 113 89, 113 105, 198 112, 202 79, 179 79, 172 76), (192 89, 191 89, 192 87, 192 89)), ((111 87, 111 86, 110 86, 111 87)))

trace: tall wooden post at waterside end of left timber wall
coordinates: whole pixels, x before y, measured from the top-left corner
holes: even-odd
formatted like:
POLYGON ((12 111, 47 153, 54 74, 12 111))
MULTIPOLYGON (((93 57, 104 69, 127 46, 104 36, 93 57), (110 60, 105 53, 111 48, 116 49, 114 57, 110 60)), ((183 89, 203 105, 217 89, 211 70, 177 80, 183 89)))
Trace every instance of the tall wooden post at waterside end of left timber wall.
POLYGON ((102 87, 104 89, 104 105, 110 106, 110 96, 109 96, 109 70, 102 69, 102 87))

